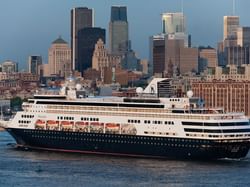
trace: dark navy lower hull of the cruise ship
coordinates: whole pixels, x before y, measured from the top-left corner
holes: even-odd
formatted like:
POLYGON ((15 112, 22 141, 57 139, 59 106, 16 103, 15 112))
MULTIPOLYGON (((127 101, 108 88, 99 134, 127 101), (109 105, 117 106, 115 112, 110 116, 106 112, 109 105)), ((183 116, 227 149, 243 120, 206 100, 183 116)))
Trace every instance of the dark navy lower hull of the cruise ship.
POLYGON ((248 139, 240 142, 218 142, 190 138, 13 128, 7 131, 15 138, 17 144, 23 147, 121 156, 174 159, 243 158, 247 155, 250 146, 248 139))

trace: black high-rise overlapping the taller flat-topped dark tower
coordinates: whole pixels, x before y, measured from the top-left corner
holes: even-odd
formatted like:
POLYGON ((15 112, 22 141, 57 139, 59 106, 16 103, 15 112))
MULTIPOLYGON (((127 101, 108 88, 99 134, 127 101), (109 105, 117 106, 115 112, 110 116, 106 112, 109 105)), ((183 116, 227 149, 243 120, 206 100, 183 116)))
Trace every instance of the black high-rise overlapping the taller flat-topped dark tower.
POLYGON ((84 70, 92 67, 92 57, 96 42, 102 39, 105 43, 105 29, 84 28, 78 32, 78 66, 76 69, 83 73, 84 70))

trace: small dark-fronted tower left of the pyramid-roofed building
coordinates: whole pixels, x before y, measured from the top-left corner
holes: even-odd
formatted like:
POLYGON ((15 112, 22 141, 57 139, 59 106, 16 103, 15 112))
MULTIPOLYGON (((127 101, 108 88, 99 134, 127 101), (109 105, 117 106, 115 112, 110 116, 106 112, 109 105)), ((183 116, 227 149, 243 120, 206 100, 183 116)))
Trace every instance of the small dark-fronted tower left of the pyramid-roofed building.
POLYGON ((40 66, 42 65, 42 56, 32 55, 28 59, 29 73, 40 75, 40 66))

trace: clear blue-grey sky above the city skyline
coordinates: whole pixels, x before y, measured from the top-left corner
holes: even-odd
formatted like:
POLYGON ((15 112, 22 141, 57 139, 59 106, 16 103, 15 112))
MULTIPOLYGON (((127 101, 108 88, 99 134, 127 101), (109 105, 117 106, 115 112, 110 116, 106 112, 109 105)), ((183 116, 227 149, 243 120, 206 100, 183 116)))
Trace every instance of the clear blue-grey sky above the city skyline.
MULTIPOLYGON (((129 38, 141 59, 148 59, 149 36, 161 32, 161 13, 180 12, 193 46, 217 46, 223 38, 223 16, 233 14, 233 0, 0 0, 0 63, 12 60, 26 69, 29 55, 42 55, 59 35, 70 45, 70 10, 93 8, 95 26, 106 29, 112 5, 125 5, 129 38)), ((250 0, 235 0, 241 26, 250 26, 250 0)), ((108 41, 108 38, 107 40, 108 41)))

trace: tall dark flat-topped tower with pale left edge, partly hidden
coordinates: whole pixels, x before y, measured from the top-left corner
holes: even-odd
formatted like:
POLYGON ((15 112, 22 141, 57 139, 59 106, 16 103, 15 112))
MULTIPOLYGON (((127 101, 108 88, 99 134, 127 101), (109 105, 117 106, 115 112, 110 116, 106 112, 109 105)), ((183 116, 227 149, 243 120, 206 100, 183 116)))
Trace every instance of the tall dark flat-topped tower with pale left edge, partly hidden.
POLYGON ((86 27, 93 27, 93 10, 86 7, 71 10, 71 61, 72 69, 78 70, 78 32, 86 27))

